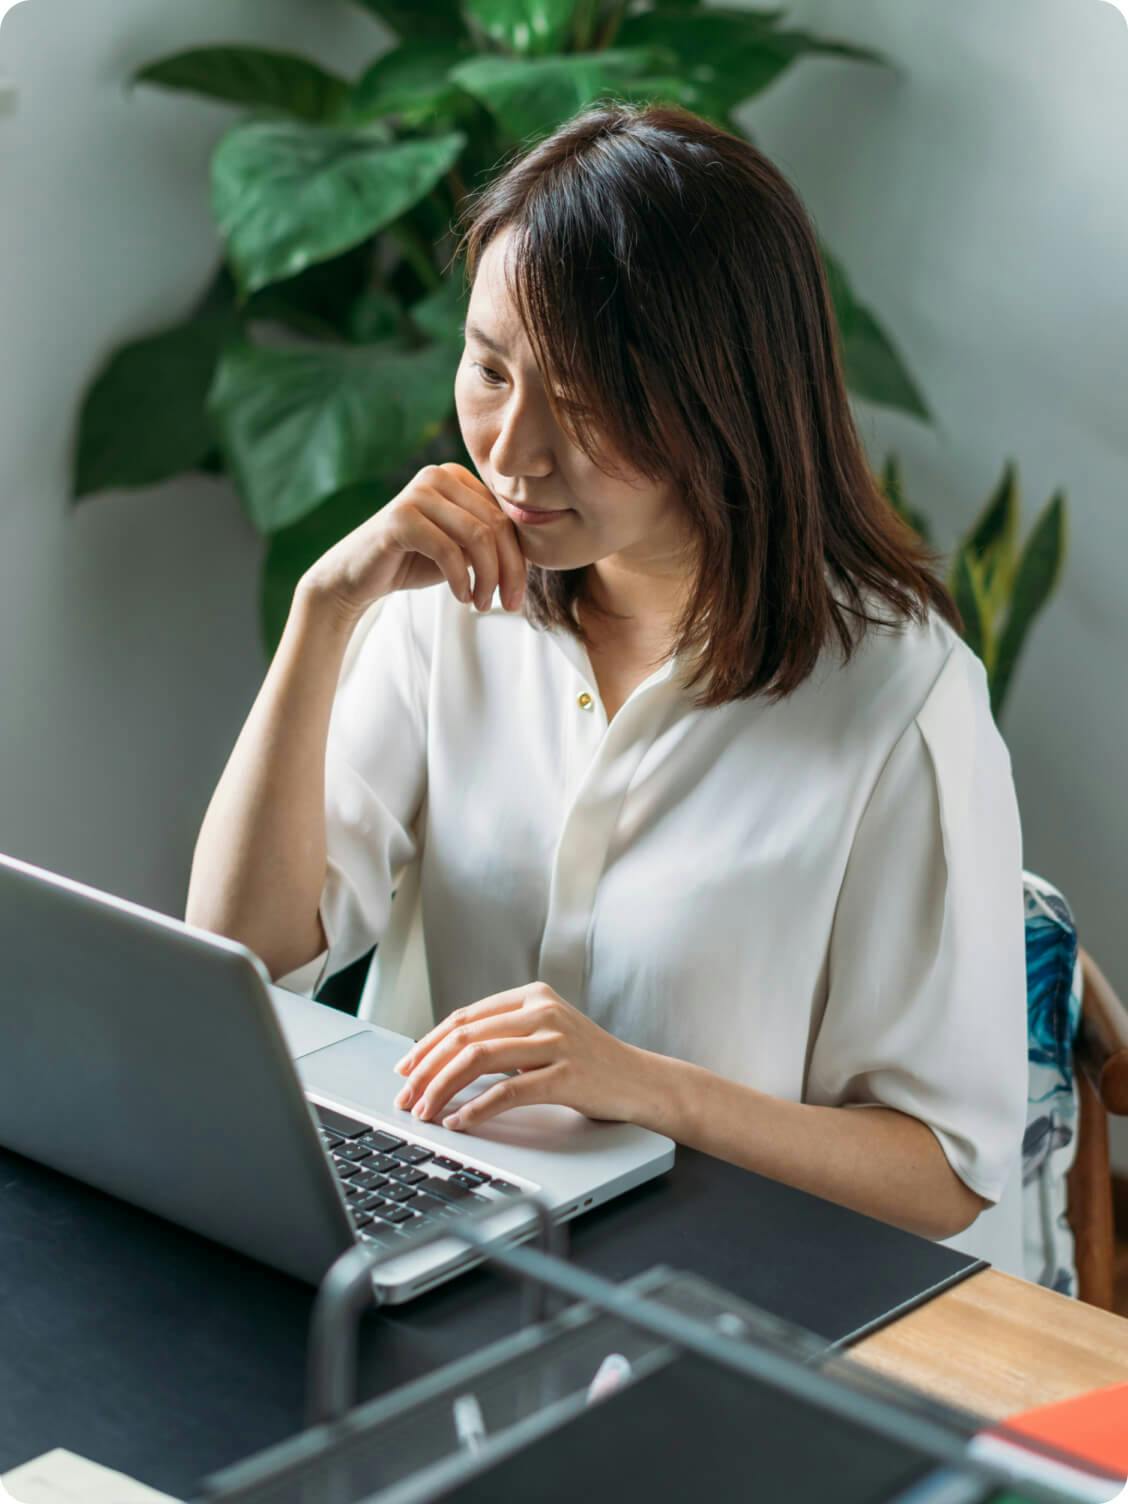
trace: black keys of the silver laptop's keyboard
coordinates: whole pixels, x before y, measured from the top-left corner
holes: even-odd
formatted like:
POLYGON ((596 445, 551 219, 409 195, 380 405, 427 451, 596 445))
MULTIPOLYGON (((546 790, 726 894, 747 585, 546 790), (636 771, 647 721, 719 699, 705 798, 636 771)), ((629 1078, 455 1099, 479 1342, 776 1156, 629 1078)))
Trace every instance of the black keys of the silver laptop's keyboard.
POLYGON ((519 1185, 436 1154, 424 1143, 373 1128, 320 1102, 310 1107, 362 1242, 399 1247, 418 1227, 520 1194, 519 1185))

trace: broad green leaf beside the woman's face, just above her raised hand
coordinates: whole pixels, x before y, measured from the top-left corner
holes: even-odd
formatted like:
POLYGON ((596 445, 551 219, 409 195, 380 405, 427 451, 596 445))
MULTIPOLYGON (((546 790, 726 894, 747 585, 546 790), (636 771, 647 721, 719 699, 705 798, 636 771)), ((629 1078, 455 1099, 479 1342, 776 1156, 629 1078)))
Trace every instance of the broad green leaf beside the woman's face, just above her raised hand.
POLYGON ((208 397, 227 468, 260 532, 409 459, 451 412, 462 347, 236 344, 208 397))

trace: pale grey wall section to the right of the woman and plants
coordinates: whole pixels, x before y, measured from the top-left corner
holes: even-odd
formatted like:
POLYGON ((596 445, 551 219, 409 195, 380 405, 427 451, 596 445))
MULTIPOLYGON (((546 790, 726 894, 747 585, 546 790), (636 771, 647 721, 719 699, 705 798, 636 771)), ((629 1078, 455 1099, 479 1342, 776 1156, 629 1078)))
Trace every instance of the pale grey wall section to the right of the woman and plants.
MULTIPOLYGON (((741 123, 907 356, 935 430, 865 409, 951 547, 1020 466, 1071 553, 1003 708, 1024 862, 1128 997, 1128 26, 1102 0, 797 0, 898 74, 799 63, 741 123)), ((1128 1123, 1114 1154, 1128 1170, 1128 1123)))

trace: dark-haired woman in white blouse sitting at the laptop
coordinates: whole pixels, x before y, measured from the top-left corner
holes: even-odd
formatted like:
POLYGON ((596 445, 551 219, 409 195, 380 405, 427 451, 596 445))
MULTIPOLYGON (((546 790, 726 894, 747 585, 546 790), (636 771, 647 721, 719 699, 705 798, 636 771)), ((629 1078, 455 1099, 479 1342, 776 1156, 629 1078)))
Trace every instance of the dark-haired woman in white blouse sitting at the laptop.
POLYGON ((405 1113, 629 1119, 1021 1272, 1011 763, 866 465, 802 205, 740 137, 608 105, 462 245, 478 474, 427 466, 304 576, 199 922, 313 993, 402 951, 414 872, 405 1113))

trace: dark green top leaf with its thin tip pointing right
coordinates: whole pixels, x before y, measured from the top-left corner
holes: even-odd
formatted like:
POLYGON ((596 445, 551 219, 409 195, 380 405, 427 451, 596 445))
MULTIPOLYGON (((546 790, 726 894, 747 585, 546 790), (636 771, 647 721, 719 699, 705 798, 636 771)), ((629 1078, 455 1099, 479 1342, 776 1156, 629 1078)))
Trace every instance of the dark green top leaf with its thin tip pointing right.
POLYGON ((626 20, 615 42, 620 47, 659 45, 672 51, 686 81, 698 87, 702 105, 716 117, 761 93, 802 56, 847 57, 887 66, 886 57, 866 47, 826 41, 809 32, 778 30, 778 15, 719 8, 690 12, 659 8, 626 20))

